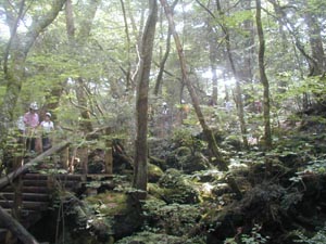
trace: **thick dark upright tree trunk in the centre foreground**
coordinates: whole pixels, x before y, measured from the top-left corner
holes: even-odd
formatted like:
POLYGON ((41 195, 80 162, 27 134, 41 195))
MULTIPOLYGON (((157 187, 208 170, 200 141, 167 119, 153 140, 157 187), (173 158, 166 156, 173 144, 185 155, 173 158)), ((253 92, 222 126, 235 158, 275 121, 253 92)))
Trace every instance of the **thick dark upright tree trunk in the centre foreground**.
POLYGON ((154 43, 155 26, 158 21, 158 2, 149 0, 149 16, 145 26, 140 47, 140 66, 137 74, 136 99, 136 144, 133 187, 147 191, 147 160, 148 160, 148 92, 151 69, 152 51, 154 43))

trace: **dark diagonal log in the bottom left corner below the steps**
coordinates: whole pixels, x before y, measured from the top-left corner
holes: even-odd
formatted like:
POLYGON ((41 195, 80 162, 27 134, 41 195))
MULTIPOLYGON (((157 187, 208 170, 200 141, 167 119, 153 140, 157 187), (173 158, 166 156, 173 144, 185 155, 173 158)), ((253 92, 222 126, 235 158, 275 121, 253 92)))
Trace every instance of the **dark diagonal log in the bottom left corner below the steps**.
POLYGON ((0 219, 4 227, 24 244, 39 244, 36 239, 11 215, 0 207, 0 219))

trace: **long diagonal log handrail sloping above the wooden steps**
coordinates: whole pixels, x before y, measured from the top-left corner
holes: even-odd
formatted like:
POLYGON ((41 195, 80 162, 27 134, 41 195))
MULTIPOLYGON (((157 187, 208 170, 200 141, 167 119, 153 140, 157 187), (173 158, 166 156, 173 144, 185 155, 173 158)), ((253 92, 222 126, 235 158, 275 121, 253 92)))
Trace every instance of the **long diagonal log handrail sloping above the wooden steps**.
POLYGON ((38 155, 34 159, 29 160, 28 163, 26 163, 22 167, 20 167, 17 169, 15 169, 14 171, 10 172, 5 177, 2 177, 0 179, 0 189, 2 189, 5 185, 8 185, 10 182, 12 182, 20 175, 26 172, 28 170, 28 168, 30 168, 33 166, 36 166, 39 163, 41 163, 46 157, 51 156, 52 154, 59 153, 60 151, 64 150, 66 146, 70 145, 70 143, 71 143, 70 141, 63 141, 63 142, 61 142, 61 143, 52 146, 48 151, 41 153, 40 155, 38 155))

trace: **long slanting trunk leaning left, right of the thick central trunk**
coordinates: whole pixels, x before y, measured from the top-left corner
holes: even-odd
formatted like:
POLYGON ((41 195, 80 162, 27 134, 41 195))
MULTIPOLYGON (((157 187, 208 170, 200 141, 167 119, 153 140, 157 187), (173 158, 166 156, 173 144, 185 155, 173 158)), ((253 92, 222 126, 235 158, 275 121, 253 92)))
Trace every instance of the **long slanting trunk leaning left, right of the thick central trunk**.
POLYGON ((183 73, 183 80, 184 80, 185 85, 187 86, 187 89, 189 91, 189 94, 190 94, 190 98, 191 98, 191 101, 192 101, 195 112, 196 112, 197 117, 198 117, 198 120, 199 120, 199 123, 202 127, 205 139, 209 142, 209 149, 211 150, 211 152, 212 152, 213 156, 215 157, 216 162, 218 162, 220 169, 227 170, 227 164, 226 164, 224 157, 221 154, 221 151, 220 151, 220 149, 216 144, 216 141, 215 141, 215 138, 214 138, 214 134, 213 134, 211 128, 208 126, 208 124, 204 119, 204 116, 203 116, 202 111, 200 108, 198 97, 196 94, 193 86, 191 85, 191 82, 188 78, 183 47, 181 47, 178 34, 176 33, 176 29, 175 29, 175 24, 174 24, 174 21, 173 21, 173 16, 172 16, 170 7, 168 7, 168 4, 165 0, 160 0, 160 1, 161 1, 161 4, 164 7, 164 11, 165 11, 166 17, 168 20, 168 25, 172 28, 172 35, 174 37, 174 41, 175 41, 176 49, 177 49, 178 56, 179 56, 180 68, 181 68, 181 73, 183 73))

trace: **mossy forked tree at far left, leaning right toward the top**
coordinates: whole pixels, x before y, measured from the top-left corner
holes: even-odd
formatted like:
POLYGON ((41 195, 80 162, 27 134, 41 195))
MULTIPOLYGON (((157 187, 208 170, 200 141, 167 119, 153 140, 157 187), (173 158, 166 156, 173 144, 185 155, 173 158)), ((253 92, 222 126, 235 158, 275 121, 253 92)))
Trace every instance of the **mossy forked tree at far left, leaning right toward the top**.
POLYGON ((18 15, 14 17, 14 5, 9 1, 4 2, 4 9, 7 14, 8 24, 11 29, 10 42, 8 43, 8 50, 4 56, 4 81, 5 81, 5 94, 0 105, 0 144, 7 137, 9 123, 13 120, 14 108, 18 100, 22 86, 26 78, 25 62, 27 55, 34 46, 38 36, 57 18, 59 12, 62 10, 66 0, 53 0, 51 1, 51 8, 42 15, 38 17, 30 17, 33 20, 29 26, 26 26, 25 31, 16 31, 20 23, 24 22, 21 13, 28 11, 24 9, 24 1, 22 1, 18 15), (12 21, 16 20, 16 21, 12 21))

